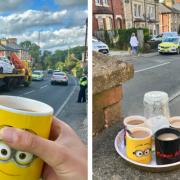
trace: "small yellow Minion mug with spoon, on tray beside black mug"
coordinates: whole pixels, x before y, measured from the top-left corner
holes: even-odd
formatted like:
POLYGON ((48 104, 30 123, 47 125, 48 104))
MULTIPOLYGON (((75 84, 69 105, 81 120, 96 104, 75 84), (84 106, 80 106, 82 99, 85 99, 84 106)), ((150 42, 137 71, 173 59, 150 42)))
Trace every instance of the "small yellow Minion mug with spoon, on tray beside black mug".
POLYGON ((152 160, 152 131, 145 127, 134 127, 126 132, 126 155, 129 159, 148 164, 152 160))

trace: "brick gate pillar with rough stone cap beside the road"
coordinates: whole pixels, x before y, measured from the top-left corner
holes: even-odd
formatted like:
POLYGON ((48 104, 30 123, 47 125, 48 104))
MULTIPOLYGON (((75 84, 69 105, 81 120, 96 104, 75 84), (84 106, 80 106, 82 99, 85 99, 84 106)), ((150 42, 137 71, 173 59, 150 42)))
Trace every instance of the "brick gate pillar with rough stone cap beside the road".
POLYGON ((93 53, 93 135, 122 117, 122 83, 132 78, 132 64, 93 53))

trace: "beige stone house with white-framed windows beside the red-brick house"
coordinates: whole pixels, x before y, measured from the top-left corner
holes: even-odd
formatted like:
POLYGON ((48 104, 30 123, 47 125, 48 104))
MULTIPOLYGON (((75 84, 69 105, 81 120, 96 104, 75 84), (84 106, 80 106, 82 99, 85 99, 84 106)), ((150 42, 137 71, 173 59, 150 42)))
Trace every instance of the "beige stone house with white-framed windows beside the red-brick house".
POLYGON ((124 0, 126 28, 148 28, 159 34, 159 0, 124 0))

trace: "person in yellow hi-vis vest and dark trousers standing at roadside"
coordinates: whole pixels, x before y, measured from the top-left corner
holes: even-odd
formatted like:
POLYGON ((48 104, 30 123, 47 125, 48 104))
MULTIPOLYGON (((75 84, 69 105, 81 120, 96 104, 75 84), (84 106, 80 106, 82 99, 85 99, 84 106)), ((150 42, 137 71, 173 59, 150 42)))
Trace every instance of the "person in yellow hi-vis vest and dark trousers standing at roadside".
POLYGON ((82 77, 79 80, 80 90, 78 95, 78 103, 86 102, 86 89, 87 89, 87 77, 83 73, 82 77))

